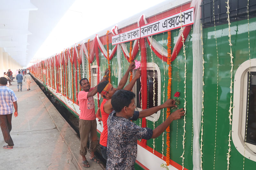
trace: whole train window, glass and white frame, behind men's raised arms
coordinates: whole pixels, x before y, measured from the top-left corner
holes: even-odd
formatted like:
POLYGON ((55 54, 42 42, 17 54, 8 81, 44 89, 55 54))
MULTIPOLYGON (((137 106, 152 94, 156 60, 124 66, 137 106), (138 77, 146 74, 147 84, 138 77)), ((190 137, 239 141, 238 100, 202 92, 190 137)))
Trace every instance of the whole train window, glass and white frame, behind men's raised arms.
MULTIPOLYGON (((148 106, 147 108, 158 106, 161 104, 161 74, 160 69, 156 63, 147 63, 148 70, 148 106), (155 78, 155 80, 154 80, 155 78), (155 85, 154 85, 155 84, 155 85), (155 92, 155 95, 154 95, 155 92)), ((133 72, 135 75, 135 71, 133 72)), ((135 104, 139 111, 141 111, 141 84, 140 79, 135 83, 132 91, 136 94, 135 104)), ((160 117, 160 111, 151 116, 146 117, 150 121, 157 121, 160 117)))

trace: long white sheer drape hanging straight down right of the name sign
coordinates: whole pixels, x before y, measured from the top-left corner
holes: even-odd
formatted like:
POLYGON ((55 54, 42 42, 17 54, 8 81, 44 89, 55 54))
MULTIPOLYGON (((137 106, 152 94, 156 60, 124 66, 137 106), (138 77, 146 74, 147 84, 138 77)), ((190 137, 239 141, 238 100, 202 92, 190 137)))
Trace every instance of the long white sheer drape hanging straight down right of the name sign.
POLYGON ((193 104, 193 170, 200 169, 200 143, 199 134, 202 117, 202 95, 203 95, 203 54, 201 45, 201 4, 202 0, 192 0, 191 7, 195 7, 193 25, 193 82, 192 82, 192 104, 193 104))

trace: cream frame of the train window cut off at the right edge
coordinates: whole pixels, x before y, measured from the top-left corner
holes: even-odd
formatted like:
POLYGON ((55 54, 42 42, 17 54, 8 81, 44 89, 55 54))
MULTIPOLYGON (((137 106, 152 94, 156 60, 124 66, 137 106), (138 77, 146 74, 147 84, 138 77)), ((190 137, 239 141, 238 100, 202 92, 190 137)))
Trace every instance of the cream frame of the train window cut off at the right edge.
POLYGON ((244 142, 248 102, 248 72, 256 72, 256 58, 242 63, 234 78, 232 139, 240 154, 256 161, 256 145, 244 142))

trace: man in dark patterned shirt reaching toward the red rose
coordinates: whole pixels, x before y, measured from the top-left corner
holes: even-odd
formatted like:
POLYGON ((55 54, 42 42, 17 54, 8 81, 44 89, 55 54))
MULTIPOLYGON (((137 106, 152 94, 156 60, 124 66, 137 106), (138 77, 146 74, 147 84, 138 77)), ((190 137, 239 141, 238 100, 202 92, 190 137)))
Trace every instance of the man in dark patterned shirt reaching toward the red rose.
POLYGON ((161 135, 168 125, 184 115, 183 108, 173 112, 162 124, 154 130, 142 128, 130 120, 147 117, 165 107, 177 107, 175 100, 168 99, 164 104, 151 107, 140 112, 135 111, 135 94, 126 90, 118 90, 112 96, 111 104, 114 109, 108 116, 108 148, 106 170, 134 170, 137 158, 137 140, 156 138, 161 135))

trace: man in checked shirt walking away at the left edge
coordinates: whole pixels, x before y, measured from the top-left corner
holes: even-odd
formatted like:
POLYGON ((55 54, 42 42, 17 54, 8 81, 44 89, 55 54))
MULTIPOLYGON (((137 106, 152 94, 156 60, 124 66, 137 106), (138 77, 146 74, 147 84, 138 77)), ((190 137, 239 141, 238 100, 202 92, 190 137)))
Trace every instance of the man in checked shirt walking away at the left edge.
POLYGON ((18 105, 17 105, 17 97, 14 92, 6 87, 7 78, 0 78, 0 126, 4 136, 4 141, 7 145, 3 146, 4 149, 12 149, 13 141, 10 135, 10 131, 12 130, 12 112, 13 107, 15 109, 14 116, 18 116, 18 105))

